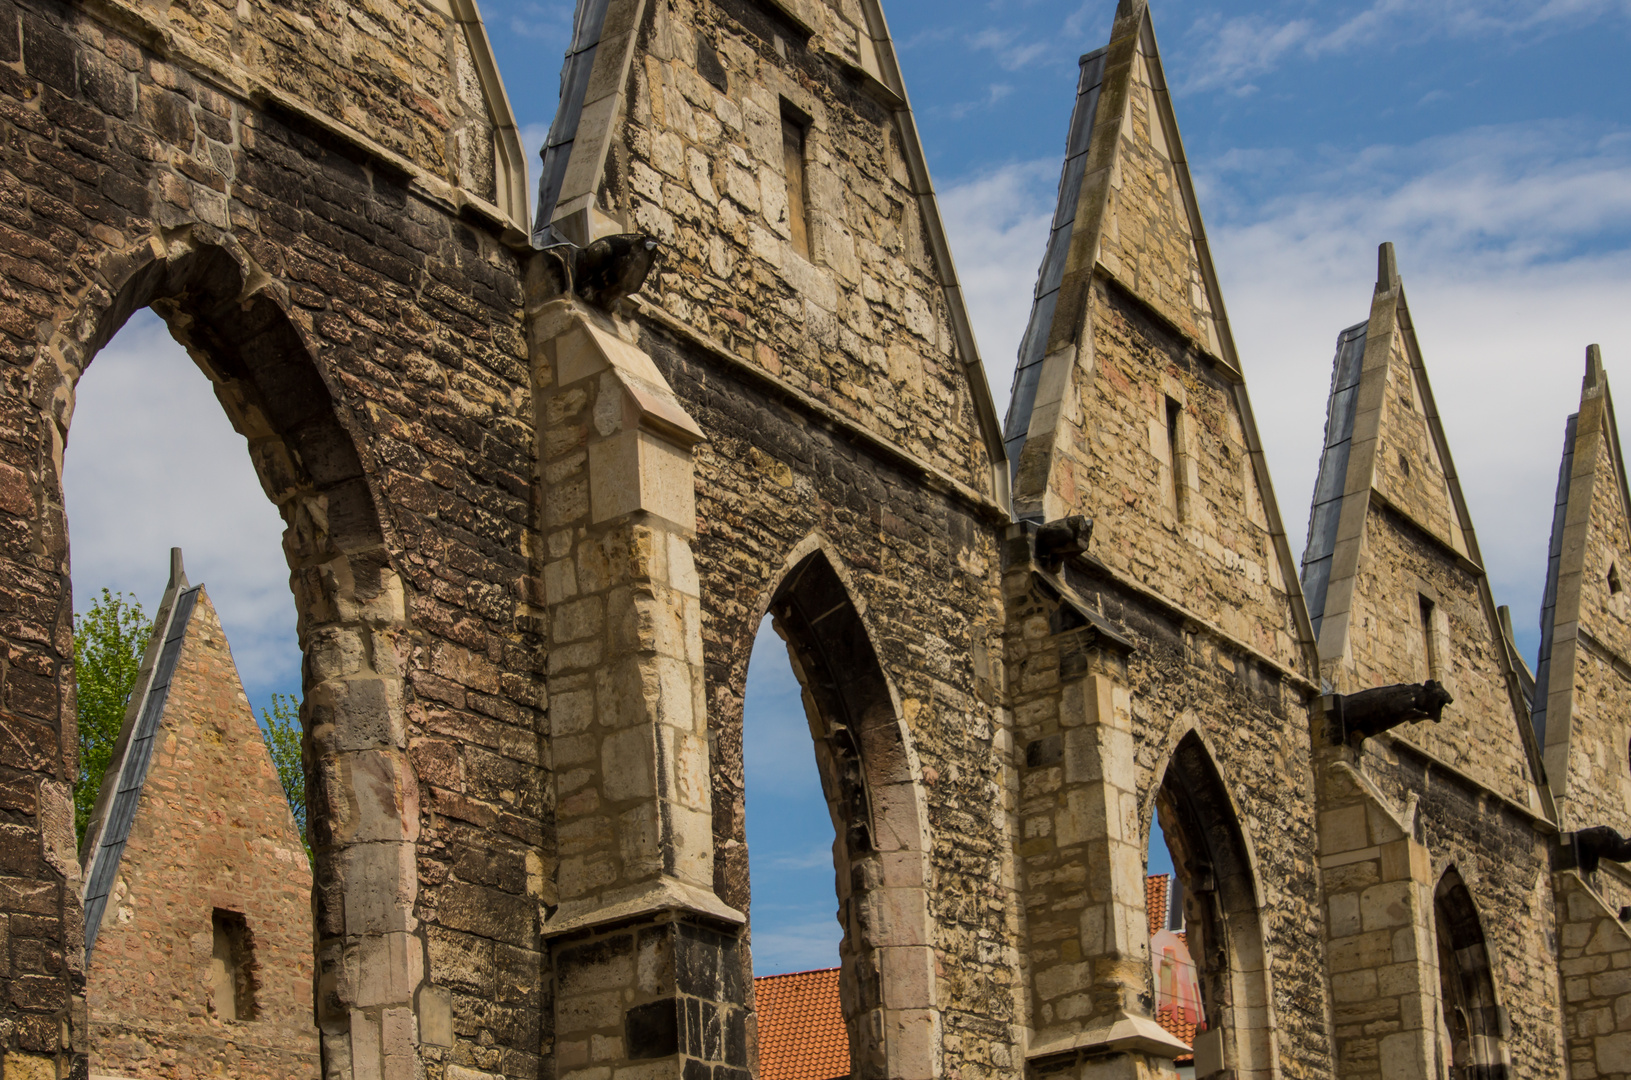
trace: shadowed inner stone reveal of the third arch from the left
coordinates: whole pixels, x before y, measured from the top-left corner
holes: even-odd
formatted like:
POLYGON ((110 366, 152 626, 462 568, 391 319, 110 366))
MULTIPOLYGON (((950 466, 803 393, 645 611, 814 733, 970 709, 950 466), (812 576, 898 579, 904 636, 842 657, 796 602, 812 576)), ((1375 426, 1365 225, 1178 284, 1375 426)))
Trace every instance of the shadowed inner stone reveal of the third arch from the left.
POLYGON ((1205 1028, 1196 1036, 1196 1075, 1217 1072, 1200 1072, 1212 1064, 1240 1078, 1266 1078, 1274 1072, 1274 1028, 1256 876, 1233 799, 1196 731, 1178 741, 1155 812, 1182 889, 1200 982, 1205 1028))

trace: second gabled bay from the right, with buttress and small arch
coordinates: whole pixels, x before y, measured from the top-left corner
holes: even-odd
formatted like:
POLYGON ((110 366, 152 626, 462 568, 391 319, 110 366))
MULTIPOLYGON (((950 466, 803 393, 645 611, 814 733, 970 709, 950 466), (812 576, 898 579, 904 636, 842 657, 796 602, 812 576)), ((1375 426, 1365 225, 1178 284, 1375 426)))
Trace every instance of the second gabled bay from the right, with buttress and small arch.
POLYGON ((1316 790, 1341 1075, 1549 1067, 1549 995, 1527 998, 1517 1025, 1492 998, 1545 964, 1551 922, 1551 803, 1527 672, 1491 595, 1391 245, 1368 321, 1337 339, 1303 591, 1328 690, 1316 790), (1354 695, 1429 680, 1452 698, 1442 721, 1368 739, 1344 728, 1354 695), (1476 1005, 1461 1010, 1456 995, 1476 1005), (1528 1038, 1512 1039, 1515 1026, 1528 1038))

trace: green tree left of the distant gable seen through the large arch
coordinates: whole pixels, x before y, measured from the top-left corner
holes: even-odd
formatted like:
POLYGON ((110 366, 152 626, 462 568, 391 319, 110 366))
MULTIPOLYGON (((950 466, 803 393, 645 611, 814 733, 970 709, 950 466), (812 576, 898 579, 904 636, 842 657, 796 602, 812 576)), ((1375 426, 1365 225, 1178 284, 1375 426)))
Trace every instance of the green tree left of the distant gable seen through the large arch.
POLYGON ((124 592, 101 591, 91 609, 73 618, 73 675, 78 682, 80 775, 73 785, 73 825, 80 843, 96 808, 96 791, 124 726, 142 653, 153 623, 142 604, 124 592))

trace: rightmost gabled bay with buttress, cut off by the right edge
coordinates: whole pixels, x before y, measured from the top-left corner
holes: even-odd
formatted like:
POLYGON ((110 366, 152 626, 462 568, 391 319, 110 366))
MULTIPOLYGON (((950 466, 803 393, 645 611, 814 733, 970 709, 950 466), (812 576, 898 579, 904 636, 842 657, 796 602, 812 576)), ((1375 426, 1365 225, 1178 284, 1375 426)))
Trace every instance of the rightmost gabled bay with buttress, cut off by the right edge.
MULTIPOLYGON (((1631 555, 1626 471, 1602 351, 1585 352, 1580 408, 1564 431, 1541 607, 1535 737, 1558 799, 1558 824, 1631 835, 1631 555)), ((1631 874, 1603 860, 1556 865, 1562 1020, 1571 1075, 1631 1075, 1631 874)))

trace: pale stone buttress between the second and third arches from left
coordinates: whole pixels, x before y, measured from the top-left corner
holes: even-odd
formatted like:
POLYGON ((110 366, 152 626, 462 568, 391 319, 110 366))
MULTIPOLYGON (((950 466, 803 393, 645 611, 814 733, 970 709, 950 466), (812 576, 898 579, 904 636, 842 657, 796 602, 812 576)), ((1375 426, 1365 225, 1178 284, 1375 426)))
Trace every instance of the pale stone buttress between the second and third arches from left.
MULTIPOLYGON (((1024 543, 1010 537, 1011 543, 1024 543)), ((1031 1072, 1138 1077, 1189 1047, 1148 1011, 1150 933, 1137 791, 1130 643, 1088 623, 1065 597, 1039 602, 1032 574, 1011 574, 1018 638, 1019 868, 1031 959, 1031 1072)))

